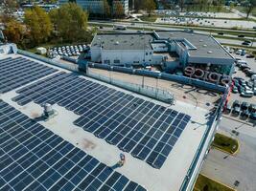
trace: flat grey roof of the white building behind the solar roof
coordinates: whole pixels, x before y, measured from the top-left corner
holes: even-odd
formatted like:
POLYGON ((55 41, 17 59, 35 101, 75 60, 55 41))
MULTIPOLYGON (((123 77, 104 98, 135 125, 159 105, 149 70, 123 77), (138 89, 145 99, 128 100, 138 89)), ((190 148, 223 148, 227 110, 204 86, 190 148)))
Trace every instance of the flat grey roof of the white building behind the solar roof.
POLYGON ((104 50, 151 50, 151 42, 154 40, 174 40, 184 48, 188 46, 191 58, 230 59, 231 62, 234 60, 232 55, 227 53, 213 36, 196 32, 98 33, 95 35, 91 47, 99 47, 102 44, 104 50))

